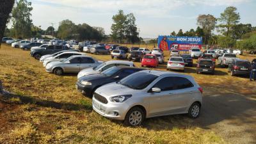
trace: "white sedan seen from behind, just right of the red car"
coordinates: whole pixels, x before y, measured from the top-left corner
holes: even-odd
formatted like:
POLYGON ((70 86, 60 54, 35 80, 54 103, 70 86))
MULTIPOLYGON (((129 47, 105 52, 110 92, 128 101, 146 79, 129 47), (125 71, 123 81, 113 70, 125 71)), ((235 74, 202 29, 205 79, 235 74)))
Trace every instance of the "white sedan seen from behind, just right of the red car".
POLYGON ((182 57, 180 56, 171 56, 170 60, 167 63, 167 70, 183 70, 184 71, 185 63, 182 57))

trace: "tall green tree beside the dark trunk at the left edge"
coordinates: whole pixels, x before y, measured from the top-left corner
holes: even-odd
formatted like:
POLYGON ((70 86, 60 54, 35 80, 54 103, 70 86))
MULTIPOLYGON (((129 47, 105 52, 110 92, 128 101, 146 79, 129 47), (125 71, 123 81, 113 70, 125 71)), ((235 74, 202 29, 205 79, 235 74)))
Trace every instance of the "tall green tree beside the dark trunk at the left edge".
POLYGON ((12 11, 13 29, 15 31, 15 37, 21 36, 22 38, 30 38, 32 20, 31 2, 27 0, 19 0, 15 3, 12 11))

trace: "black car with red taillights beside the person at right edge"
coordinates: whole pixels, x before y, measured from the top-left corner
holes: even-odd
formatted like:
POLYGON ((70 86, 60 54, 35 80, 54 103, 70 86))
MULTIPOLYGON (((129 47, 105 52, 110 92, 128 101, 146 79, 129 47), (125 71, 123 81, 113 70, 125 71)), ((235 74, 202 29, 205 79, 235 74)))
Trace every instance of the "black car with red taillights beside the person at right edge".
POLYGON ((245 75, 250 76, 252 65, 250 61, 234 59, 232 63, 228 65, 228 72, 231 72, 231 76, 245 75))

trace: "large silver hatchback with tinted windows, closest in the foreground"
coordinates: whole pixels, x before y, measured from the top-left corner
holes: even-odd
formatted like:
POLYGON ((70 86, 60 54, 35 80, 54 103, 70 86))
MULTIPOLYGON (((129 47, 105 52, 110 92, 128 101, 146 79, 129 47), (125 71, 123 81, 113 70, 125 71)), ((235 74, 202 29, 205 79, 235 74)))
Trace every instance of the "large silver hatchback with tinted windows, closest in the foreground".
POLYGON ((100 115, 132 126, 154 116, 188 113, 196 118, 202 106, 202 88, 191 76, 143 70, 101 86, 92 103, 100 115))

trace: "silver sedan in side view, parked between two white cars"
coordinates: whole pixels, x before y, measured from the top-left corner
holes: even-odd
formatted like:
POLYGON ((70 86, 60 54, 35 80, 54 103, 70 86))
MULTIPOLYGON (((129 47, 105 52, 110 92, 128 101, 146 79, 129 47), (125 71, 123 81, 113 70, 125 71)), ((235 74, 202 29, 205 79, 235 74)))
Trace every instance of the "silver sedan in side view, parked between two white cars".
POLYGON ((84 68, 97 67, 102 61, 91 56, 70 56, 62 61, 53 61, 45 67, 46 72, 62 75, 63 73, 78 73, 84 68))

